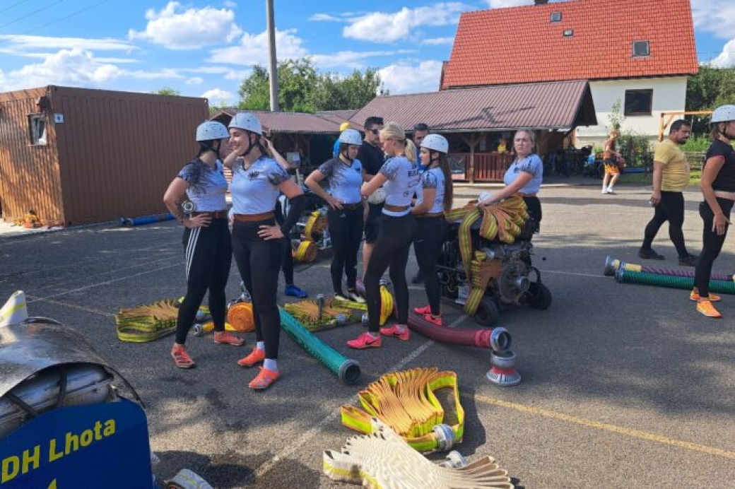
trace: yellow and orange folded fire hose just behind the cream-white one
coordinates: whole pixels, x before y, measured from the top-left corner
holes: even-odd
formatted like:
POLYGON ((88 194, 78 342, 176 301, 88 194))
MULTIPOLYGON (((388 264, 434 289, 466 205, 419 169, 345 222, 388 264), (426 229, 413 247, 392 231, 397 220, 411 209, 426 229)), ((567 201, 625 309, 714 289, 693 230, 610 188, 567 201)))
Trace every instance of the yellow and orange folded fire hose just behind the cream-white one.
POLYGON ((361 433, 372 432, 370 418, 379 418, 418 451, 446 451, 462 441, 465 410, 459 403, 457 376, 434 368, 384 374, 357 393, 363 409, 343 406, 342 424, 361 433), (444 424, 445 410, 435 390, 448 388, 453 393, 456 423, 444 424))

